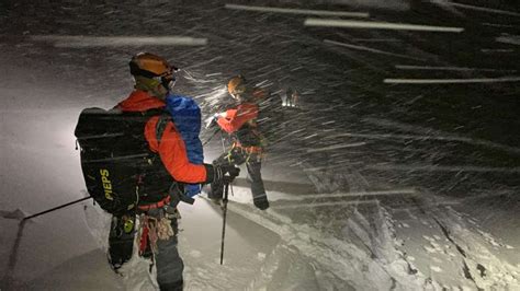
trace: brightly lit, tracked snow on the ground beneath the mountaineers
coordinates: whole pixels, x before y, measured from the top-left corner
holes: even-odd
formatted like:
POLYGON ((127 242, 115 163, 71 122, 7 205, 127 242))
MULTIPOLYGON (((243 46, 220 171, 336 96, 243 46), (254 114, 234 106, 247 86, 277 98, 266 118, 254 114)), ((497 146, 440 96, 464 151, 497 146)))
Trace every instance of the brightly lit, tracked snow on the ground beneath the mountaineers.
MULTIPOLYGON (((510 264, 498 254, 519 246, 494 236, 474 218, 453 209, 443 199, 414 195, 415 207, 403 207, 378 197, 369 205, 321 207, 315 196, 309 196, 314 201, 291 200, 291 197, 294 196, 273 191, 271 208, 260 211, 252 208, 247 187, 234 187, 228 205, 224 265, 219 265, 221 208, 204 198, 197 198, 194 206, 181 205, 179 248, 185 263, 185 290, 515 290, 520 287, 520 265, 510 264), (310 203, 310 207, 283 208, 287 201, 310 203), (343 214, 338 216, 339 212, 343 214)), ((325 197, 339 202, 337 197, 325 197)), ((361 198, 362 195, 339 196, 339 199, 361 198)), ((84 202, 82 209, 99 249, 61 264, 24 287, 77 290, 110 286, 114 290, 154 290, 147 271, 149 263, 137 256, 126 266, 129 273, 126 277, 112 272, 104 256, 110 216, 91 202, 84 202)), ((2 223, 11 222, 2 220, 2 223)), ((4 240, 7 243, 8 238, 4 240)))

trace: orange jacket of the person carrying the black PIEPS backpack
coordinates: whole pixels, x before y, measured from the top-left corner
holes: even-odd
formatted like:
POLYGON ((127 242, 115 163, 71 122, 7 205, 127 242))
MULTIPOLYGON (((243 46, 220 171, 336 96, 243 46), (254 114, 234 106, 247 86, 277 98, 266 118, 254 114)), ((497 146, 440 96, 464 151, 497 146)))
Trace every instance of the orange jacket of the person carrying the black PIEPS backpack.
MULTIPOLYGON (((145 112, 154 108, 162 108, 165 103, 150 96, 144 91, 134 91, 124 101, 116 105, 123 112, 145 112)), ((202 164, 192 164, 188 160, 186 149, 181 135, 177 131, 173 123, 169 121, 165 128, 160 142, 156 137, 156 125, 159 116, 151 117, 145 126, 145 138, 152 152, 159 154, 162 164, 170 175, 181 183, 206 182, 206 167, 202 164)))

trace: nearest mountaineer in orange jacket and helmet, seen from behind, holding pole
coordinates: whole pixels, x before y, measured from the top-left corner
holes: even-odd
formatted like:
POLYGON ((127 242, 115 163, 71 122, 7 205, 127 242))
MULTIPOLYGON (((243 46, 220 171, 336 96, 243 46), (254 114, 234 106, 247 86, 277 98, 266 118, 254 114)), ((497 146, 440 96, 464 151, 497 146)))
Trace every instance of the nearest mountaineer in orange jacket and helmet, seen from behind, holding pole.
MULTIPOLYGON (((238 175, 238 168, 190 161, 188 143, 176 126, 182 116, 171 116, 171 112, 167 114, 166 107, 176 82, 173 73, 177 68, 163 58, 148 53, 135 55, 129 67, 135 80, 135 90, 114 109, 151 116, 146 117, 149 119, 145 124, 143 135, 149 150, 156 153, 155 156, 162 163, 151 177, 145 177, 145 188, 154 191, 138 197, 137 220, 146 229, 139 232, 137 237, 139 254, 152 258, 160 290, 182 290, 184 265, 177 251, 179 214, 172 196, 183 196, 185 184, 211 183, 212 187, 223 188, 225 183, 231 182, 238 175), (150 112, 159 114, 147 114, 150 112), (168 118, 165 119, 165 115, 168 118)), ((200 128, 200 118, 194 121, 199 123, 200 128)), ((202 151, 202 146, 200 150, 202 151)), ((129 249, 132 255, 132 246, 136 241, 134 234, 129 238, 122 238, 126 229, 124 221, 122 217, 114 216, 109 238, 110 260, 116 270, 124 267, 124 263, 129 259, 127 252, 129 249)))

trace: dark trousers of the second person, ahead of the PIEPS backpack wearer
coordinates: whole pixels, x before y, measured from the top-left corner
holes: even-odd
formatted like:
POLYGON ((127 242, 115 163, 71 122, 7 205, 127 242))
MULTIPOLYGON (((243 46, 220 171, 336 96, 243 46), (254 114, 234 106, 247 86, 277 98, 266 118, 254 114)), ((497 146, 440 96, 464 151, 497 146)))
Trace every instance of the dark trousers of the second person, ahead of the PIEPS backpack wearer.
MULTIPOLYGON (((242 148, 233 148, 229 152, 222 154, 213 164, 225 165, 241 165, 246 163, 248 172, 248 182, 251 186, 252 200, 255 206, 260 209, 267 209, 269 207, 268 197, 265 195, 265 188, 262 181, 262 162, 261 154, 256 152, 248 152, 242 148)), ((212 194, 210 197, 222 197, 224 188, 212 184, 212 194)))

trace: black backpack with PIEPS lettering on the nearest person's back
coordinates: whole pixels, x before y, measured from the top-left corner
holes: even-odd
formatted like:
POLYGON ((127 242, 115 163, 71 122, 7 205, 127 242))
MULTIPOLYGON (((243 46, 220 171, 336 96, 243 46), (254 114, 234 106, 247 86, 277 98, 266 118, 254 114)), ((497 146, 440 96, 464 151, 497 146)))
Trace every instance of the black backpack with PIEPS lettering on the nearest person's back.
POLYGON ((79 115, 75 136, 84 183, 105 211, 122 214, 139 202, 156 202, 168 195, 174 181, 144 136, 148 119, 162 113, 87 108, 79 115))

